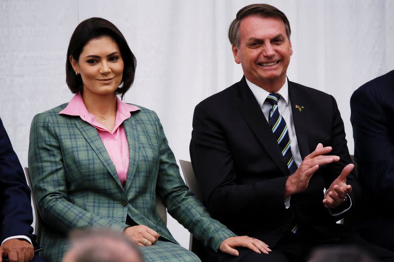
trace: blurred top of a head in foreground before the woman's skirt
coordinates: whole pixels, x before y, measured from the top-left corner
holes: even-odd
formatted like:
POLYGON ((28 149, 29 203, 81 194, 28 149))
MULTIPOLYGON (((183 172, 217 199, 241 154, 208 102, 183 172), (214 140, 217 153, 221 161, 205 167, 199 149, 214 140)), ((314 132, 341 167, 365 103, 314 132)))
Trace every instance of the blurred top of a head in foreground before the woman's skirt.
POLYGON ((63 262, 143 262, 130 239, 109 230, 75 231, 63 262))

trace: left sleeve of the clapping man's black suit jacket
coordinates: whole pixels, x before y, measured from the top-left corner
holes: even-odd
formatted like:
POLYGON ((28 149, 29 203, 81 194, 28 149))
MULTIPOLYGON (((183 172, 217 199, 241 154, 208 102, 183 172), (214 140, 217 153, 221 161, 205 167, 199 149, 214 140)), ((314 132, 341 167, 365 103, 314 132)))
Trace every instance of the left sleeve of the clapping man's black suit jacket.
POLYGON ((243 214, 242 218, 248 220, 250 216, 285 210, 284 190, 288 176, 271 174, 271 178, 256 183, 239 184, 237 176, 242 174, 235 170, 229 139, 214 115, 201 104, 197 105, 190 143, 193 169, 212 216, 227 221, 229 217, 243 214))

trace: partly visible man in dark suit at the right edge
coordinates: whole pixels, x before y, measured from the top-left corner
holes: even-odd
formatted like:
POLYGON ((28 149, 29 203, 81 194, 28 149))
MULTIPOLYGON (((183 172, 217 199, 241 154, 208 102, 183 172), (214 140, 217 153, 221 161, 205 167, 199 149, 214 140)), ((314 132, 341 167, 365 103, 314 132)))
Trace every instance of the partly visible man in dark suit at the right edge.
POLYGON ((357 231, 394 251, 394 70, 357 89, 350 100, 364 207, 357 231))

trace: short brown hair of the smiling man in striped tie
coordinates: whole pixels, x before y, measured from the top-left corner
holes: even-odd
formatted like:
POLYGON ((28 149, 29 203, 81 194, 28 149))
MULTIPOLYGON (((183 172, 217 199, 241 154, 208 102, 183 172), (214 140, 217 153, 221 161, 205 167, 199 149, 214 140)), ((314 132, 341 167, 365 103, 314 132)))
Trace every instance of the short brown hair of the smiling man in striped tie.
POLYGON ((237 15, 235 16, 235 19, 231 22, 229 28, 229 40, 231 45, 239 47, 239 25, 241 24, 241 21, 248 16, 260 16, 264 18, 277 17, 282 19, 286 27, 287 37, 290 39, 292 30, 290 29, 290 23, 286 15, 275 6, 266 3, 255 3, 247 5, 241 10, 239 10, 237 15))

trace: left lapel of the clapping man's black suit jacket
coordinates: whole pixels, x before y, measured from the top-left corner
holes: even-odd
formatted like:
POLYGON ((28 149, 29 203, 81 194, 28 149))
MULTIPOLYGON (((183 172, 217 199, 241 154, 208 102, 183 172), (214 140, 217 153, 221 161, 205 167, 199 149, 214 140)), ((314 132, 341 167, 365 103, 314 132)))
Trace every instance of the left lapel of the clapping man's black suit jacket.
POLYGON ((290 175, 276 139, 269 128, 268 122, 263 115, 261 107, 246 84, 245 77, 238 83, 235 104, 246 122, 252 129, 260 143, 271 156, 272 160, 280 168, 283 174, 290 175))

